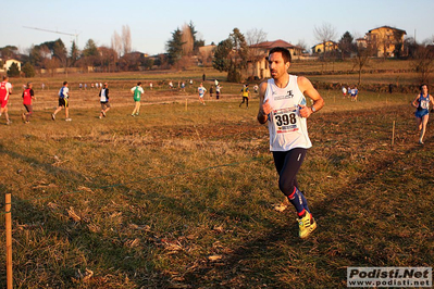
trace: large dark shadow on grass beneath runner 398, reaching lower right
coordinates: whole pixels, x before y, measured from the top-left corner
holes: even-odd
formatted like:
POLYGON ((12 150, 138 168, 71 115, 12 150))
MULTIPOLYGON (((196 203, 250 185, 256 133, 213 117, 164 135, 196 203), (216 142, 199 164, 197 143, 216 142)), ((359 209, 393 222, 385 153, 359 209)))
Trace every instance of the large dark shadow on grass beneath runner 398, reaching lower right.
MULTIPOLYGON (((432 141, 432 137, 426 139, 432 141)), ((433 257, 429 244, 420 249, 419 260, 399 254, 405 252, 393 253, 406 251, 408 242, 414 241, 399 236, 399 227, 408 226, 406 222, 414 215, 409 211, 401 216, 402 223, 394 219, 397 208, 380 211, 394 196, 382 197, 375 188, 369 190, 377 185, 379 173, 399 171, 396 163, 402 155, 417 155, 421 147, 414 143, 400 153, 398 150, 371 155, 372 161, 351 184, 334 188, 322 202, 308 194, 319 227, 307 240, 297 237, 298 227, 288 217, 287 226, 276 224, 270 231, 256 233, 258 237, 234 249, 222 262, 203 261, 186 274, 187 284, 215 288, 345 288, 347 266, 429 266, 433 257)), ((405 184, 400 189, 406 189, 405 184)), ((401 206, 405 210, 407 204, 401 206)), ((288 210, 294 211, 292 206, 288 210)), ((409 225, 418 224, 414 221, 409 225)), ((424 242, 424 237, 419 241, 424 242)))

